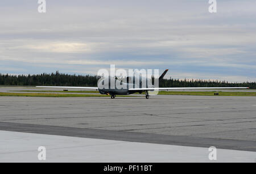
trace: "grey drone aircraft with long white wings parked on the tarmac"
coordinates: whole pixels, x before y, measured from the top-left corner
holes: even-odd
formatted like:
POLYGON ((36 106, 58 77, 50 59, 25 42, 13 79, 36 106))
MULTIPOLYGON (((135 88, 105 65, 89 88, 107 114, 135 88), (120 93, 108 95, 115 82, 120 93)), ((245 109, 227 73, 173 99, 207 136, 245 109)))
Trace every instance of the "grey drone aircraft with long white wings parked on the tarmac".
MULTIPOLYGON (((158 80, 163 79, 164 75, 166 75, 168 69, 164 71, 164 73, 159 77, 158 80)), ((155 87, 154 85, 148 85, 147 80, 151 79, 144 79, 146 80, 146 86, 142 87, 143 79, 140 77, 138 80, 136 80, 137 77, 127 77, 125 79, 118 79, 117 77, 107 77, 107 78, 101 78, 98 80, 98 87, 66 87, 66 86, 36 86, 36 87, 43 87, 43 88, 73 88, 73 89, 85 89, 85 90, 98 90, 100 94, 104 95, 110 95, 111 99, 114 99, 116 95, 130 95, 138 92, 139 94, 142 94, 142 92, 145 92, 146 99, 149 99, 149 91, 168 91, 168 90, 209 90, 209 89, 246 89, 249 87, 164 87, 159 88, 155 87), (121 87, 118 88, 117 86, 114 86, 114 88, 110 87, 110 81, 113 80, 115 84, 119 83, 122 84, 122 86, 125 86, 125 88, 121 87), (138 82, 135 83, 135 82, 138 82), (108 82, 108 84, 105 84, 108 82)))

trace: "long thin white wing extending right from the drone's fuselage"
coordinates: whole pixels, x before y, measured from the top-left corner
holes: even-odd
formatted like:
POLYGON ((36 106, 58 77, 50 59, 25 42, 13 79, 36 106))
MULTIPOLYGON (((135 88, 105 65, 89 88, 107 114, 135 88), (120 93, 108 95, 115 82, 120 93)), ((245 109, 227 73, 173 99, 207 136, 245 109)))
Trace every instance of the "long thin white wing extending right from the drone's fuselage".
POLYGON ((129 91, 167 91, 167 90, 228 90, 249 89, 249 87, 171 87, 171 88, 130 88, 129 91))

